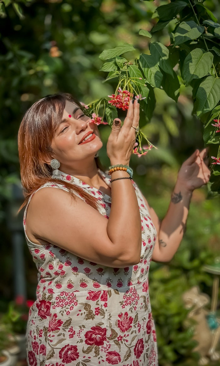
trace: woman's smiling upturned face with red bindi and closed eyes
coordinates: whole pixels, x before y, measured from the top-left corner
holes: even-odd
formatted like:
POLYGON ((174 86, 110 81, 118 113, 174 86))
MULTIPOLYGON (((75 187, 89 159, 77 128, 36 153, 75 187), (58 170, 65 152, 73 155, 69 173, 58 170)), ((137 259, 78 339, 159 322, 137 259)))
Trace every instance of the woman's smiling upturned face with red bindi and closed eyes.
POLYGON ((101 149, 102 141, 98 127, 91 118, 72 102, 66 101, 62 122, 55 131, 51 143, 53 158, 62 166, 72 166, 74 162, 94 157, 101 149))

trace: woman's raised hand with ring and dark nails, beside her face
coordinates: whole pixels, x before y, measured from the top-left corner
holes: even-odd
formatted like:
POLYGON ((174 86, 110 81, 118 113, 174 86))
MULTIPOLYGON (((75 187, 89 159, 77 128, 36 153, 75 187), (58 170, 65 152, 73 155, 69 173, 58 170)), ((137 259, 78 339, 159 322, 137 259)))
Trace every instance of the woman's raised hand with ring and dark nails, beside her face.
POLYGON ((139 126, 140 105, 135 100, 129 102, 128 112, 121 127, 121 120, 116 118, 107 142, 107 155, 111 165, 129 165, 132 150, 135 145, 135 128, 139 126), (135 128, 133 128, 133 127, 135 128))

